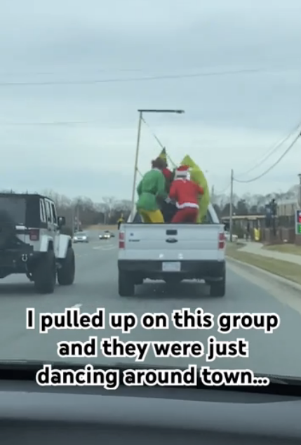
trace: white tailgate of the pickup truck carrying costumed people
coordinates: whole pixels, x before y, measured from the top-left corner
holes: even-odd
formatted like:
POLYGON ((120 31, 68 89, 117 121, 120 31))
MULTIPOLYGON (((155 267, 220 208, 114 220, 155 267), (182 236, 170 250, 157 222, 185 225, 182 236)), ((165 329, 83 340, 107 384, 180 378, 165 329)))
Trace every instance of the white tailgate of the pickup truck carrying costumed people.
POLYGON ((221 224, 125 224, 121 228, 119 259, 223 260, 221 224))

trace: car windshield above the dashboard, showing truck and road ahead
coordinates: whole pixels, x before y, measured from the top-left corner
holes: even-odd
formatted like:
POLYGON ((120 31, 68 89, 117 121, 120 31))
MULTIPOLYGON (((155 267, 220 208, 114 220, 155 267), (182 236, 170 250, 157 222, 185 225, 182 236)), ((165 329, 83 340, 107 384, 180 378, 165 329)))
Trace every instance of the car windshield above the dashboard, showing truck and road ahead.
POLYGON ((0 360, 301 378, 301 1, 140 3, 1 2, 0 360))

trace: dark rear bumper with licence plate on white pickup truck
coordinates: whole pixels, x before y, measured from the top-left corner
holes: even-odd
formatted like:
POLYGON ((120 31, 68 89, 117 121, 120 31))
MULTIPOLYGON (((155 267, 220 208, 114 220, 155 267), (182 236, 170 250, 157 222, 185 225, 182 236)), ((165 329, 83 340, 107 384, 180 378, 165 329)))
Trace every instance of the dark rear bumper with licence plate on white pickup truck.
MULTIPOLYGON (((203 279, 205 281, 220 281, 225 277, 225 260, 185 260, 173 261, 180 263, 180 271, 163 271, 164 261, 158 260, 119 260, 119 272, 135 274, 141 279, 166 279, 180 277, 180 279, 203 279)), ((167 262, 171 263, 171 262, 167 262)))

